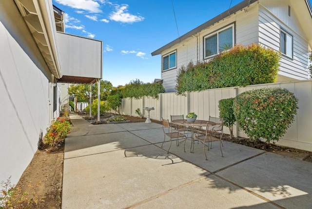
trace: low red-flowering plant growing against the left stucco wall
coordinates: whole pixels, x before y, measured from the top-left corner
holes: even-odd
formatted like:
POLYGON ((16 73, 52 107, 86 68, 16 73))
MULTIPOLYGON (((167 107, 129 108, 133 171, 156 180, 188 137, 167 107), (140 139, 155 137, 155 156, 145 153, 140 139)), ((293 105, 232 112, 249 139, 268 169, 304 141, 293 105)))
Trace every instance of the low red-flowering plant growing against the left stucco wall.
POLYGON ((43 142, 49 146, 58 146, 64 142, 66 135, 69 133, 70 124, 68 121, 55 121, 47 128, 43 142))

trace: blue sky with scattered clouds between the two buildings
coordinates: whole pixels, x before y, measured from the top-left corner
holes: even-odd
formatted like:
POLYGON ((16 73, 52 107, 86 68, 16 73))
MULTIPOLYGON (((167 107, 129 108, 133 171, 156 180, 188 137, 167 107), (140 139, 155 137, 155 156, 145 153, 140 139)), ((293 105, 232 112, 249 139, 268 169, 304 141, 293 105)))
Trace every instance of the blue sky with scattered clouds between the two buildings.
POLYGON ((135 79, 144 83, 160 79, 161 57, 152 57, 153 51, 241 1, 53 0, 53 4, 66 13, 65 32, 103 41, 103 80, 117 86, 135 79))

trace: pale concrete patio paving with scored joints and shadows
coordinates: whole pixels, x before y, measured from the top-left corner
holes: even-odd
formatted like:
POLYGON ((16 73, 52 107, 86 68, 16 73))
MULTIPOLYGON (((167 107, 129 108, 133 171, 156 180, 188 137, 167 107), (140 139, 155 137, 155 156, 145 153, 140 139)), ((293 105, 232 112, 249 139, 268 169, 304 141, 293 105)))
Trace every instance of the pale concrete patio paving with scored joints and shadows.
POLYGON ((167 154, 159 124, 71 121, 63 209, 312 208, 312 163, 226 141, 206 161, 190 141, 167 154))

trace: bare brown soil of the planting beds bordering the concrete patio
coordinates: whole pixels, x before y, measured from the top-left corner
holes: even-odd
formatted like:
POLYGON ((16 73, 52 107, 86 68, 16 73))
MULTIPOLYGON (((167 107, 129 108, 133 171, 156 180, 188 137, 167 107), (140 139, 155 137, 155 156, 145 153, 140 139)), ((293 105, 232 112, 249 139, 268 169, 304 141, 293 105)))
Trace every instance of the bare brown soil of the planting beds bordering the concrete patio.
MULTIPOLYGON (((87 115, 84 116, 85 119, 94 120, 88 118, 87 115)), ((105 123, 104 119, 109 117, 101 117, 101 123, 105 123)), ((138 117, 124 116, 127 120, 130 120, 130 123, 145 122, 145 118, 141 119, 138 117)), ((62 119, 62 118, 61 118, 62 119)), ((152 120, 154 123, 161 124, 159 121, 152 120)), ((251 146, 258 149, 263 149, 268 152, 274 152, 277 154, 282 154, 285 156, 290 156, 297 159, 303 159, 307 162, 312 163, 312 152, 303 151, 299 149, 293 149, 285 146, 276 146, 269 145, 263 142, 254 143, 250 142, 245 138, 234 138, 230 139, 228 135, 225 135, 223 140, 231 141, 237 144, 244 146, 251 146)), ((63 177, 63 158, 64 158, 64 145, 59 146, 56 149, 49 150, 46 147, 39 147, 36 154, 33 157, 33 160, 26 168, 22 174, 19 183, 17 184, 18 188, 21 188, 22 191, 28 191, 29 194, 36 192, 35 197, 39 200, 39 203, 36 206, 31 208, 38 209, 60 209, 61 208, 61 195, 62 195, 62 177, 63 177), (32 188, 29 188, 29 185, 32 185, 32 188), (36 186, 38 185, 38 186, 36 186), (44 197, 44 198, 40 198, 44 197)))

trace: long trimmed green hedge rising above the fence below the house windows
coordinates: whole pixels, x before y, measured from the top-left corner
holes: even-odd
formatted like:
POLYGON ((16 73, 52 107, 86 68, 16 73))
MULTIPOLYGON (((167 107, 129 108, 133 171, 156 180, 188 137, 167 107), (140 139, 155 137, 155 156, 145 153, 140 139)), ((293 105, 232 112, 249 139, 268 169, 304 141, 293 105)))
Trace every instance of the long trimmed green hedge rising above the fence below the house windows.
POLYGON ((210 62, 182 66, 176 77, 178 94, 211 88, 266 84, 275 81, 281 54, 259 45, 234 46, 210 62))

